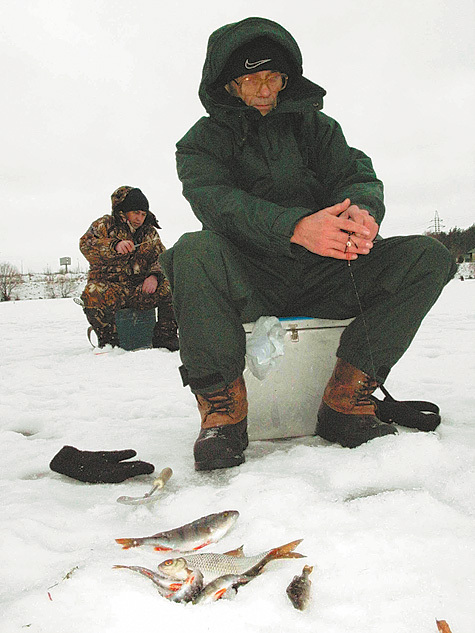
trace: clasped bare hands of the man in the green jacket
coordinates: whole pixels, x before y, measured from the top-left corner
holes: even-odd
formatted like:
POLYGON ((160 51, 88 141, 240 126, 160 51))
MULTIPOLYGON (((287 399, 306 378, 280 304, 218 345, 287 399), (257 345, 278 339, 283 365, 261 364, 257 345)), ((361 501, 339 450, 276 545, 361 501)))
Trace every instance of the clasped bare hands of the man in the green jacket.
POLYGON ((354 260, 370 252, 377 232, 378 225, 368 211, 347 198, 302 218, 290 241, 323 257, 354 260))

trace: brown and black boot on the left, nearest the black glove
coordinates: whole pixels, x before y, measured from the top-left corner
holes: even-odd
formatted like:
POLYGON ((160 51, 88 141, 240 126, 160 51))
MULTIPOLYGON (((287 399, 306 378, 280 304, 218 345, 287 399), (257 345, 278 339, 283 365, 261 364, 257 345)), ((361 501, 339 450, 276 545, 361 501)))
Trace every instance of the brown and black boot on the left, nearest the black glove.
POLYGON ((194 446, 195 469, 230 468, 244 462, 247 394, 243 377, 213 393, 196 394, 201 431, 194 446))

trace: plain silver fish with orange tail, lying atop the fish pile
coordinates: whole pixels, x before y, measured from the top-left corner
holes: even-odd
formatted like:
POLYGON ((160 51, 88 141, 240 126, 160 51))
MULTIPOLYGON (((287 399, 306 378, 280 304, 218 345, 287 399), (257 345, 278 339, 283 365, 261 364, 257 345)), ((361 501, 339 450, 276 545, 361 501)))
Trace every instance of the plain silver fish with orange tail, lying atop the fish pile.
POLYGON ((286 545, 275 547, 267 552, 255 556, 244 556, 242 549, 233 550, 225 554, 189 554, 178 558, 169 558, 158 566, 159 573, 179 578, 184 568, 202 572, 205 582, 212 582, 219 576, 234 574, 236 576, 251 576, 260 573, 262 568, 271 560, 280 558, 304 558, 303 554, 293 550, 302 542, 292 541, 286 545))

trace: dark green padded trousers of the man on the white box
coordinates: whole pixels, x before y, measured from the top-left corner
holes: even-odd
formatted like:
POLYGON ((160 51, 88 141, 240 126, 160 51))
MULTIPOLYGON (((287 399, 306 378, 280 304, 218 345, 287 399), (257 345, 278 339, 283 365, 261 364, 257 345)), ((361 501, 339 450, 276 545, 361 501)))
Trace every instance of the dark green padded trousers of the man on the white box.
POLYGON ((228 239, 199 231, 160 256, 172 287, 182 378, 194 393, 242 374, 242 324, 263 315, 355 317, 337 356, 382 383, 456 271, 445 246, 423 235, 377 240, 350 266, 296 245, 292 255, 243 253, 228 239))

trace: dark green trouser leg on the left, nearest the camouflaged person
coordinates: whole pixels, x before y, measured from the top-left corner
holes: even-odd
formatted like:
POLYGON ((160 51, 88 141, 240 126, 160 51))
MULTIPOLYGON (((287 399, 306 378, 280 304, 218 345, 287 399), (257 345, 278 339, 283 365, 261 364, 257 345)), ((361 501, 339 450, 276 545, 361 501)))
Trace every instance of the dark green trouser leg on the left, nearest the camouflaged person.
POLYGON ((215 233, 185 234, 160 262, 173 293, 180 356, 194 392, 229 384, 244 370, 242 323, 265 313, 239 252, 215 233))

